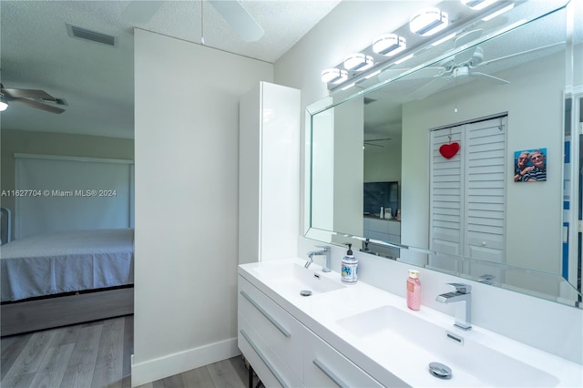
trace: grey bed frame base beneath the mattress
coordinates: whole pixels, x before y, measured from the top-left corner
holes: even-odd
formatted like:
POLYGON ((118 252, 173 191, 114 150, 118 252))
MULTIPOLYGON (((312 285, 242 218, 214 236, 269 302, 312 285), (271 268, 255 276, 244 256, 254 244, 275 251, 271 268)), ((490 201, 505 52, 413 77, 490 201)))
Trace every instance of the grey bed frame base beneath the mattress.
POLYGON ((72 292, 47 298, 5 302, 1 336, 36 332, 69 324, 134 313, 134 287, 72 292))

